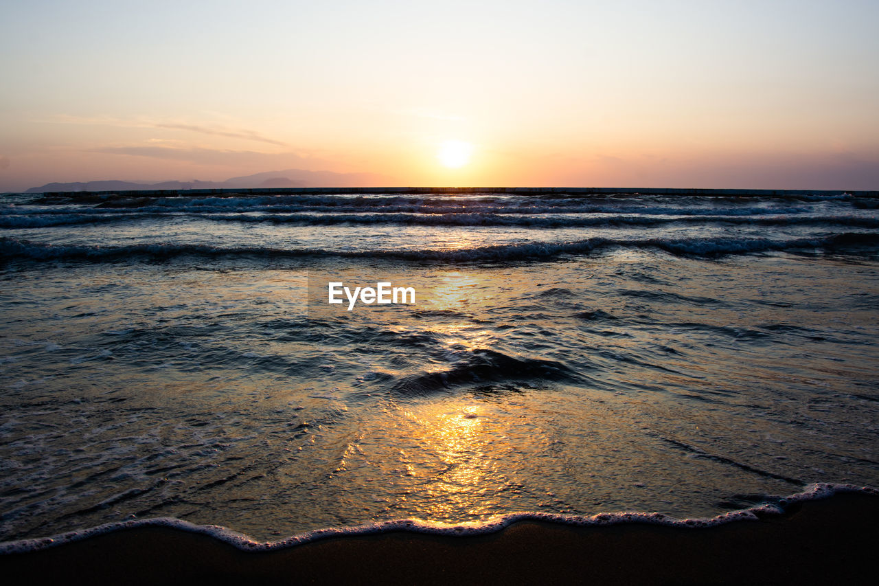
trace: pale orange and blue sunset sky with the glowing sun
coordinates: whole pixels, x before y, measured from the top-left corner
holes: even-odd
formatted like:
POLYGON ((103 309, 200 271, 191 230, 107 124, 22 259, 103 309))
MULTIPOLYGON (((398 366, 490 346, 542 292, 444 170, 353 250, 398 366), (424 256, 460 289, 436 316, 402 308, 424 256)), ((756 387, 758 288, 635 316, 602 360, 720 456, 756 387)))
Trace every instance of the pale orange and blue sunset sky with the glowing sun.
POLYGON ((0 191, 291 168, 879 189, 877 22, 875 0, 0 0, 0 191))

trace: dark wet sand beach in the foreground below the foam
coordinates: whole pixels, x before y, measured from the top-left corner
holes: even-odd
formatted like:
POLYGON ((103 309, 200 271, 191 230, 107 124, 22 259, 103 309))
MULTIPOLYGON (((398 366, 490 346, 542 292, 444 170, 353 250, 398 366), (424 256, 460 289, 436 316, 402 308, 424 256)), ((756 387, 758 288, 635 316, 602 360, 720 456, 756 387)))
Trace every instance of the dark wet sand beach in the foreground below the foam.
POLYGON ((872 584, 877 575, 879 496, 870 494, 708 529, 527 522, 481 537, 395 532, 244 553, 145 527, 0 556, 7 584, 872 584))

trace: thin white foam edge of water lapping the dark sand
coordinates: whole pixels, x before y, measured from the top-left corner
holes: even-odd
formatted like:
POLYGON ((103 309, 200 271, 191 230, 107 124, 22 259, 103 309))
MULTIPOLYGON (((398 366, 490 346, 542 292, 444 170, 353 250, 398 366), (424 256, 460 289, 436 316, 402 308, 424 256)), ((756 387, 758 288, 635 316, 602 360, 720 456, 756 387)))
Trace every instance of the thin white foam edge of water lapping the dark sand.
POLYGON ((542 521, 548 523, 564 524, 575 527, 600 527, 616 524, 655 524, 666 527, 678 527, 682 529, 716 527, 737 521, 756 521, 761 516, 782 515, 792 505, 803 502, 816 501, 831 497, 833 494, 860 493, 879 496, 879 490, 872 487, 856 487, 850 484, 817 483, 804 487, 802 492, 790 494, 783 498, 766 496, 765 502, 749 509, 739 509, 723 513, 711 518, 685 518, 678 519, 666 516, 662 513, 644 512, 620 512, 601 513, 592 516, 564 515, 560 513, 543 513, 537 511, 525 511, 509 513, 501 516, 493 516, 483 522, 444 524, 439 522, 425 521, 422 519, 396 519, 381 521, 373 524, 362 524, 353 527, 338 527, 307 531, 299 535, 280 539, 278 541, 258 541, 243 533, 218 525, 197 525, 173 517, 158 517, 151 519, 137 519, 120 523, 104 524, 79 531, 69 531, 60 535, 47 538, 20 539, 0 543, 0 554, 30 553, 62 546, 64 544, 81 541, 87 538, 97 537, 116 531, 125 531, 142 527, 167 527, 178 531, 200 533, 218 539, 230 546, 235 546, 245 552, 271 552, 292 546, 326 538, 353 537, 360 535, 374 535, 389 533, 392 531, 407 531, 411 533, 426 533, 443 536, 476 536, 487 535, 509 527, 522 521, 542 521))

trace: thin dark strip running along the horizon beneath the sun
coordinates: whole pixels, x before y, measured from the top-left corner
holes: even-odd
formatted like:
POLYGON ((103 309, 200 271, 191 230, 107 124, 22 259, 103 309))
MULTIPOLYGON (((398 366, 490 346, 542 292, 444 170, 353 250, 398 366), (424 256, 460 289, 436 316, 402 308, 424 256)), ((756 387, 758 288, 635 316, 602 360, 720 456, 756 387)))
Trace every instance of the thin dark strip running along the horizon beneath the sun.
POLYGON ((853 195, 879 198, 879 191, 842 189, 695 189, 686 187, 252 187, 215 189, 133 189, 110 191, 52 191, 43 195, 159 195, 163 197, 186 195, 316 195, 316 194, 560 194, 560 195, 704 195, 739 197, 784 197, 796 195, 853 195))

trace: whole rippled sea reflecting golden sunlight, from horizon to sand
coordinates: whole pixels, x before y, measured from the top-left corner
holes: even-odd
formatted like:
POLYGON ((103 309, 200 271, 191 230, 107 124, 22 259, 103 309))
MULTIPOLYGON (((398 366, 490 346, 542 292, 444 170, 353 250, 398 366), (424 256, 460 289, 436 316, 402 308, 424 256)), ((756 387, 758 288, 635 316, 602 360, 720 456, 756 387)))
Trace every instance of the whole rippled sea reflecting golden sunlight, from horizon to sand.
POLYGON ((873 197, 2 197, 0 541, 879 487, 873 197))

